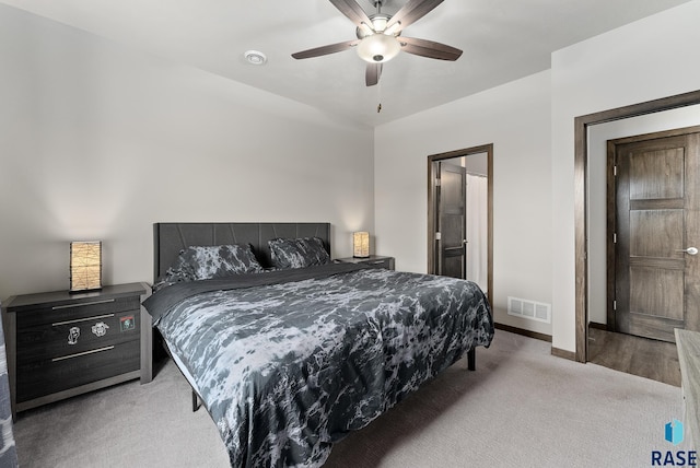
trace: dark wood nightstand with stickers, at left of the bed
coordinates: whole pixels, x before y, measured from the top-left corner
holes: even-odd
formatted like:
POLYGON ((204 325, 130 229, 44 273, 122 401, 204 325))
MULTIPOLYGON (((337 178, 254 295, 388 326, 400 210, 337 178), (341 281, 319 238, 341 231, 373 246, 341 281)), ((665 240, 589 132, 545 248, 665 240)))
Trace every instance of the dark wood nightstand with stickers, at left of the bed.
POLYGON ((109 385, 152 378, 145 283, 56 291, 2 304, 12 416, 109 385))

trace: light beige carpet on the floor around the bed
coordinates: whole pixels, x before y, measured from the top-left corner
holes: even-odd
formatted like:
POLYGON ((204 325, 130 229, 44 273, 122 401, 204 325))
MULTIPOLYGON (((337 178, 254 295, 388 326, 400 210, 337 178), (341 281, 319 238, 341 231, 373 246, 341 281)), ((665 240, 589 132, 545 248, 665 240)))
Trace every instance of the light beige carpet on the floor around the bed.
MULTIPOLYGON (((550 344, 497 330, 477 371, 456 363, 338 443, 328 467, 643 467, 682 420, 677 387, 550 355, 550 344)), ((190 410, 167 363, 137 382, 20 414, 23 467, 226 467, 208 414, 190 410)))

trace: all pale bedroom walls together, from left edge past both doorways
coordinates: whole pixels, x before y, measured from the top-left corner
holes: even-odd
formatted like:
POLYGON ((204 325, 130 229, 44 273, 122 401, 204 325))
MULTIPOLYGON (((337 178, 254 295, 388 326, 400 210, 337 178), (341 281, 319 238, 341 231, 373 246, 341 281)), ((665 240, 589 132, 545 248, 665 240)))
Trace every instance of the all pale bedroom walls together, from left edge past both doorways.
POLYGON ((369 230, 422 272, 428 155, 494 143, 497 320, 573 351, 573 119, 700 87, 698 17, 693 0, 373 131, 0 5, 0 299, 66 289, 71 239, 104 241, 106 283, 150 281, 156 221, 329 221, 335 256, 369 230), (509 295, 552 303, 552 327, 506 316, 509 295))

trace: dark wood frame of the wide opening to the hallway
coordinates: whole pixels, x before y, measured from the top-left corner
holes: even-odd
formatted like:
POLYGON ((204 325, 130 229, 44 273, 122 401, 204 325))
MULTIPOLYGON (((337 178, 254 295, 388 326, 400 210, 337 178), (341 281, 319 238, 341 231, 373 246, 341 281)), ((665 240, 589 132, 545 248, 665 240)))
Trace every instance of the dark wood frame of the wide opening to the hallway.
MULTIPOLYGON (((588 182, 588 127, 621 120, 630 117, 638 117, 646 114, 654 114, 664 110, 672 110, 686 106, 700 104, 700 90, 689 93, 677 94, 675 96, 648 101, 631 106, 618 107, 588 114, 574 118, 574 256, 575 256, 575 341, 576 350, 574 359, 579 362, 587 361, 588 352, 588 260, 586 237, 587 217, 587 182, 588 182)), ((564 352, 565 353, 565 352, 564 352)))

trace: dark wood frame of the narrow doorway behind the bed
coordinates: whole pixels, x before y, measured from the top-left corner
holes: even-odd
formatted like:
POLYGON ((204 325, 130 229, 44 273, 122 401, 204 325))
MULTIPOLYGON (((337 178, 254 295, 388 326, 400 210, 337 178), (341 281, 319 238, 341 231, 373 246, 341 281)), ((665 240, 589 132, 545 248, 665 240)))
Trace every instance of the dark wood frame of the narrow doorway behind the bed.
POLYGON ((480 147, 466 148, 464 150, 450 151, 447 153, 432 154, 428 156, 428 273, 434 274, 436 268, 435 259, 435 232, 438 221, 435 219, 434 201, 436 199, 435 176, 436 166, 440 161, 454 157, 468 156, 470 154, 487 154, 487 176, 488 176, 488 254, 487 265, 489 269, 487 280, 487 297, 493 304, 493 143, 480 147))

